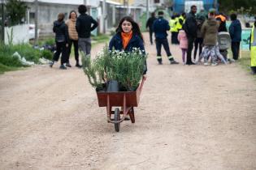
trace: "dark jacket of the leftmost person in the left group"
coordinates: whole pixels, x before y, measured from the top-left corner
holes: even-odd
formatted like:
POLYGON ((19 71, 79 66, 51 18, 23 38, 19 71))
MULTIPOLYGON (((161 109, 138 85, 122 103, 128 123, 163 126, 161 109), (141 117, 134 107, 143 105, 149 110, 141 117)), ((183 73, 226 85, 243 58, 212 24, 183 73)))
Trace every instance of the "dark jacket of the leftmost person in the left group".
POLYGON ((58 20, 54 21, 54 28, 53 31, 55 32, 55 41, 57 42, 68 42, 68 32, 67 32, 67 25, 64 21, 59 22, 58 20))

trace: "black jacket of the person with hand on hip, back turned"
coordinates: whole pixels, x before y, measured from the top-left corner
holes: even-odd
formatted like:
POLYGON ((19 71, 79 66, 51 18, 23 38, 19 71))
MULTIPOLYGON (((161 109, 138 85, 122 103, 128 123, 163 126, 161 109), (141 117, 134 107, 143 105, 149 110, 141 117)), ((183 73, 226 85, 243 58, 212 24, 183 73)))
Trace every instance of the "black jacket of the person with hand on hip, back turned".
POLYGON ((76 19, 76 32, 80 38, 89 38, 93 29, 98 27, 98 23, 90 15, 81 14, 76 19), (93 23, 93 27, 92 27, 93 23))

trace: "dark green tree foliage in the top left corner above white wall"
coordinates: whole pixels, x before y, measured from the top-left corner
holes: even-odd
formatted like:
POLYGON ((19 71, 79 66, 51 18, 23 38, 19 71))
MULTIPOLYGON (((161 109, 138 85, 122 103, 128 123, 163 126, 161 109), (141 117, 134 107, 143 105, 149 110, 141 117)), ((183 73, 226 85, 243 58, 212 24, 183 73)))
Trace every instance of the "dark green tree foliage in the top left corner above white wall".
POLYGON ((22 23, 27 11, 25 2, 20 0, 9 0, 6 4, 8 26, 22 23))

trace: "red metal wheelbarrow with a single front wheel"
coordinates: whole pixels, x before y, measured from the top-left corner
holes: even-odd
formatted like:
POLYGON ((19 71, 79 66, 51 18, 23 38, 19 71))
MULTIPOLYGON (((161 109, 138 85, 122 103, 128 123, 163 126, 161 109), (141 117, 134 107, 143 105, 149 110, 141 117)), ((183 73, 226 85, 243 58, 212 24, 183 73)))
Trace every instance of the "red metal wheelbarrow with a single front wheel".
POLYGON ((135 123, 133 107, 137 107, 139 104, 144 82, 145 77, 143 76, 141 84, 137 87, 136 91, 97 91, 98 106, 106 107, 107 122, 115 125, 116 132, 119 132, 120 123, 124 121, 127 116, 130 117, 132 123, 135 123), (115 108, 112 110, 113 107, 121 107, 121 109, 115 108), (120 116, 121 114, 123 115, 122 117, 120 116))

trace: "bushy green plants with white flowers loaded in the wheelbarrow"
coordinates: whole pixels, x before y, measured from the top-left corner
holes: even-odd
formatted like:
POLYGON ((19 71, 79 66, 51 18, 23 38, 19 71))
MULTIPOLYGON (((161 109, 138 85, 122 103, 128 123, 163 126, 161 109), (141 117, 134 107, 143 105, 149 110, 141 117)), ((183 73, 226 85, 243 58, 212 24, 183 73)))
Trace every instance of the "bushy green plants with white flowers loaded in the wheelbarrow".
POLYGON ((109 51, 105 47, 93 61, 84 55, 82 62, 89 83, 97 91, 106 91, 107 83, 111 80, 119 83, 119 91, 134 91, 145 70, 145 59, 146 55, 139 49, 126 53, 109 51))

